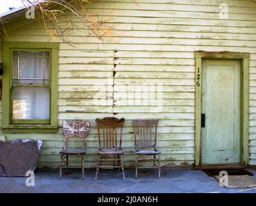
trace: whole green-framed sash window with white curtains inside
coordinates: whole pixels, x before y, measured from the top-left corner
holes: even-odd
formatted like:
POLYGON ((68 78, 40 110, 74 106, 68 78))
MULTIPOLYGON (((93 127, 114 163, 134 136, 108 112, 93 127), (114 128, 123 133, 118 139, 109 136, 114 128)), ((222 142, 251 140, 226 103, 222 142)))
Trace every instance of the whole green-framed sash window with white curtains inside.
POLYGON ((57 127, 58 46, 4 42, 3 128, 57 127))

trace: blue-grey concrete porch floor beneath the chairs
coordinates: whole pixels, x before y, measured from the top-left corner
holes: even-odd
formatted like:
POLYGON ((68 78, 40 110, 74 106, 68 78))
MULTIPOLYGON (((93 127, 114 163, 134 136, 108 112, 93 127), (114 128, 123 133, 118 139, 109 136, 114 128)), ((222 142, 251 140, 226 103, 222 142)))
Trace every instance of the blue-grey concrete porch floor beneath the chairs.
MULTIPOLYGON (((249 170, 255 175, 256 170, 249 170)), ((35 186, 27 187, 26 178, 0 177, 0 192, 90 192, 90 193, 176 193, 176 192, 255 192, 254 189, 226 189, 219 186, 215 178, 201 170, 190 168, 162 168, 161 179, 152 169, 139 171, 135 180, 134 169, 125 169, 126 180, 122 173, 112 169, 99 171, 98 180, 94 180, 95 169, 86 169, 86 179, 81 180, 81 171, 70 169, 58 180, 58 171, 35 171, 35 186)))

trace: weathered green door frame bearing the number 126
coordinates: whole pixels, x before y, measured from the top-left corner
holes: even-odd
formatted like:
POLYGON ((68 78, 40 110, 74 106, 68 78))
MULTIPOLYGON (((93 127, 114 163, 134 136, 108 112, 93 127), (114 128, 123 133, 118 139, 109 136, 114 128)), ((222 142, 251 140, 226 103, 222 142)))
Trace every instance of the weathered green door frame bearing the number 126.
POLYGON ((194 52, 195 54, 195 167, 201 167, 202 60, 241 61, 241 164, 249 161, 249 61, 250 53, 194 52))

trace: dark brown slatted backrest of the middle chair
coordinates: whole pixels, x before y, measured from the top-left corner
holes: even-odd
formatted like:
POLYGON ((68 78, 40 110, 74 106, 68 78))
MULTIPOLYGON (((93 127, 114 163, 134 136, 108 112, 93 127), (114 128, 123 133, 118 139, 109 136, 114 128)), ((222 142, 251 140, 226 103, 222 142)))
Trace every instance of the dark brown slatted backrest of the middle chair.
POLYGON ((96 118, 100 148, 122 147, 124 118, 96 118))

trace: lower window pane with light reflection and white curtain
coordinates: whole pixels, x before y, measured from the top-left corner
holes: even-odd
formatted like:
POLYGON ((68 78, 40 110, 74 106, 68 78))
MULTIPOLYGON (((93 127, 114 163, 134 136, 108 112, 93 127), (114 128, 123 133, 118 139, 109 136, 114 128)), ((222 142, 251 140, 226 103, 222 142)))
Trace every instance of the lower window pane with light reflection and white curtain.
POLYGON ((49 88, 14 87, 13 119, 49 119, 49 88))

